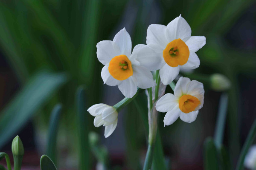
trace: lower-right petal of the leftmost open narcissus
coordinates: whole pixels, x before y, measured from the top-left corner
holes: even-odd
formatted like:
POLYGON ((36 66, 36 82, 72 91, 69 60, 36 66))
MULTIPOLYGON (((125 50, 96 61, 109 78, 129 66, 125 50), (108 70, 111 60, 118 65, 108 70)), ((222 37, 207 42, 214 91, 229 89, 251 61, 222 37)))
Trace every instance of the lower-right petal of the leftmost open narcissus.
POLYGON ((156 85, 153 79, 153 75, 151 72, 142 66, 134 66, 133 67, 133 75, 137 79, 137 86, 139 88, 151 88, 156 85))

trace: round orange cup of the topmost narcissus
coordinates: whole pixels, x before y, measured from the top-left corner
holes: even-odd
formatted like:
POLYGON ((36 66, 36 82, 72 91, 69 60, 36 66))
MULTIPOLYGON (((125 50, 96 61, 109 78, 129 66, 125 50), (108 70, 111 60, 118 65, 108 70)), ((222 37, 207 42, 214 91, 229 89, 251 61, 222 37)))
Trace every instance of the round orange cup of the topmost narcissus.
POLYGON ((180 38, 173 40, 163 50, 163 58, 171 67, 184 65, 189 60, 189 47, 180 38))

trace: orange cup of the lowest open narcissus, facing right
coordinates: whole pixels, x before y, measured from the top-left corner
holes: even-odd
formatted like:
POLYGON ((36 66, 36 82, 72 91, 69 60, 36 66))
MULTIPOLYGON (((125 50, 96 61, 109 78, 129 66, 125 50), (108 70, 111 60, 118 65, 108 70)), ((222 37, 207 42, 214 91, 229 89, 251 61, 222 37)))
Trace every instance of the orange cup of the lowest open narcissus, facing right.
POLYGON ((179 108, 183 113, 189 113, 195 111, 195 108, 198 107, 200 103, 198 98, 186 94, 180 97, 179 108))

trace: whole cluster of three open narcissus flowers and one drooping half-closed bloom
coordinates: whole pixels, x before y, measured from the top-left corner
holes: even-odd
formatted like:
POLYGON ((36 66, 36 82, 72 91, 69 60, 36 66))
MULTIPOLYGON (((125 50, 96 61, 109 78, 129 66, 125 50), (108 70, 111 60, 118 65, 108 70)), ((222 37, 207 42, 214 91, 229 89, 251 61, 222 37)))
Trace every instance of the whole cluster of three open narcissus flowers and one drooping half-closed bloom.
MULTIPOLYGON (((101 73, 104 84, 117 85, 126 97, 113 107, 96 104, 88 109, 95 116, 94 125, 105 126, 105 137, 113 133, 118 110, 135 97, 138 88, 150 89, 150 93, 155 88, 154 93, 159 94, 159 79, 165 89, 165 85, 177 77, 180 68, 199 67, 200 60, 195 52, 206 44, 204 36, 191 36, 191 28, 181 15, 167 26, 150 25, 146 39, 146 45, 136 45, 132 51, 131 37, 123 28, 113 41, 104 40, 96 45, 97 57, 105 65, 101 73), (157 71, 155 79, 151 71, 157 71)), ((154 102, 157 111, 167 112, 164 125, 171 125, 178 117, 190 123, 195 121, 198 110, 203 107, 204 86, 201 82, 180 77, 174 94, 165 94, 159 100, 154 100, 151 94, 148 101, 154 102)))

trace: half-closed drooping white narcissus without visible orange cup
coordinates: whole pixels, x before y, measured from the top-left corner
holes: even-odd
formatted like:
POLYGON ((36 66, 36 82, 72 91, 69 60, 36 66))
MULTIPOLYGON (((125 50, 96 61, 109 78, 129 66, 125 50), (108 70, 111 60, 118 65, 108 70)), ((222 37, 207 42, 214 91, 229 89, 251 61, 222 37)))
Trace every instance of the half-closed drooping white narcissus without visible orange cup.
POLYGON ((116 129, 117 125, 117 111, 112 106, 105 105, 102 103, 91 106, 87 110, 94 118, 94 126, 99 127, 105 126, 104 136, 107 138, 116 129))

